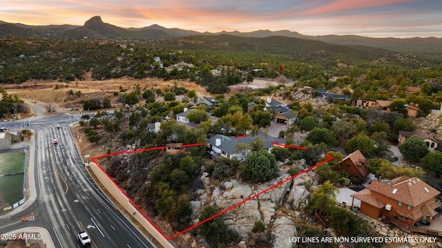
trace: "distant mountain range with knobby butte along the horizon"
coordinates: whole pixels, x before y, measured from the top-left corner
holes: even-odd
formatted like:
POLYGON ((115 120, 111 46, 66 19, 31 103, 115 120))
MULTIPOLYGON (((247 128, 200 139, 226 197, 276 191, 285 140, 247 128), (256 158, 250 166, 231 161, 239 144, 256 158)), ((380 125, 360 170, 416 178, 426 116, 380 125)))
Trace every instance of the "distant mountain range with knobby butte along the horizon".
POLYGON ((88 37, 92 39, 165 39, 200 35, 233 35, 238 37, 291 37, 298 39, 310 39, 323 41, 329 44, 344 46, 369 46, 396 51, 398 53, 442 54, 442 38, 370 38, 357 35, 301 35, 289 30, 270 31, 257 30, 253 32, 196 32, 179 28, 164 28, 152 25, 144 28, 120 28, 104 23, 99 16, 92 17, 83 26, 73 25, 49 25, 28 26, 22 23, 7 23, 0 21, 0 37, 39 37, 51 39, 79 39, 88 37))

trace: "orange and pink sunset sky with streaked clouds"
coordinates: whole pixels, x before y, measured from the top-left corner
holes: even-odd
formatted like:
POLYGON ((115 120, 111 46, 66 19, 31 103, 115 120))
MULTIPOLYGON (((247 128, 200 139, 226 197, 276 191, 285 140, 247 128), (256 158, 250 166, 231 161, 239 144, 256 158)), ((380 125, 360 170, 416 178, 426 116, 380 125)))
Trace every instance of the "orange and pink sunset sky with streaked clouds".
POLYGON ((2 0, 0 21, 83 25, 99 15, 123 28, 302 35, 442 37, 442 0, 2 0))

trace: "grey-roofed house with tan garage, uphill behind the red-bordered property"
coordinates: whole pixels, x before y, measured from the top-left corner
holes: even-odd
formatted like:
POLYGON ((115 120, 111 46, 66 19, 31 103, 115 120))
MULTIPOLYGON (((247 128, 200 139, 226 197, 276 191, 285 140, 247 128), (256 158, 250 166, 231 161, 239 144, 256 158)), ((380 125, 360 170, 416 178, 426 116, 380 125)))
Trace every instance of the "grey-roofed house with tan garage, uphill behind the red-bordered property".
POLYGON ((265 101, 264 110, 271 112, 271 119, 275 123, 284 123, 288 126, 295 123, 298 115, 298 112, 292 111, 286 104, 270 97, 267 97, 265 101))

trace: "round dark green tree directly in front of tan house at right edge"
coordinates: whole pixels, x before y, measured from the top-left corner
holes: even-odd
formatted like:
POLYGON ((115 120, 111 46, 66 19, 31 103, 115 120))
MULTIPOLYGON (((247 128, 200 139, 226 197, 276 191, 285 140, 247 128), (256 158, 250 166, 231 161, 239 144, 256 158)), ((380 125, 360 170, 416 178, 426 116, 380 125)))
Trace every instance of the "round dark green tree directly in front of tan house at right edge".
POLYGON ((399 144, 398 149, 401 151, 403 158, 411 162, 421 161, 423 157, 430 153, 427 144, 416 135, 408 137, 403 144, 399 144))

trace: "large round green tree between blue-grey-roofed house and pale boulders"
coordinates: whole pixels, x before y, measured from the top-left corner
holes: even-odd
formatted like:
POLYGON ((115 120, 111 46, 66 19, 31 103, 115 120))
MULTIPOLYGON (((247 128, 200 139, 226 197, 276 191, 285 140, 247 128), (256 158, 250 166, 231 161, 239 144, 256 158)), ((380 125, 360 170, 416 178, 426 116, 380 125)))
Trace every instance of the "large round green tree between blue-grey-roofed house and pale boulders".
POLYGON ((271 180, 278 171, 275 155, 265 150, 252 151, 247 155, 242 178, 252 182, 271 180))

